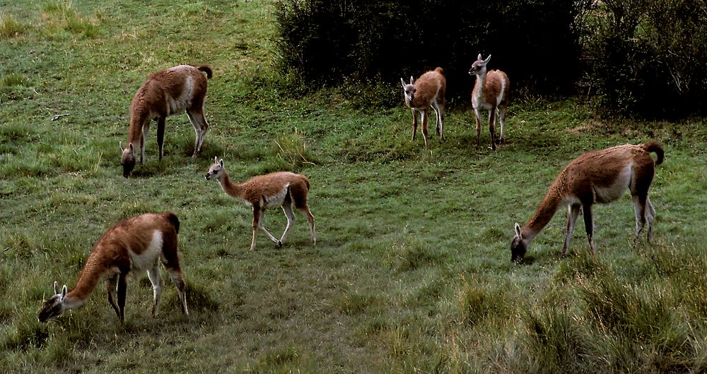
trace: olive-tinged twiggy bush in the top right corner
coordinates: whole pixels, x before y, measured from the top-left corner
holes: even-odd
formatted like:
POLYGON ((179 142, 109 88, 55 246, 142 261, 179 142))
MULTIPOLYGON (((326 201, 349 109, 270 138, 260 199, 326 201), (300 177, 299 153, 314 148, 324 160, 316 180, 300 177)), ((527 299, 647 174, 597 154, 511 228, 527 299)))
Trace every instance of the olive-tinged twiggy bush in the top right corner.
POLYGON ((590 79, 605 113, 704 114, 707 4, 701 0, 607 0, 587 18, 590 79))

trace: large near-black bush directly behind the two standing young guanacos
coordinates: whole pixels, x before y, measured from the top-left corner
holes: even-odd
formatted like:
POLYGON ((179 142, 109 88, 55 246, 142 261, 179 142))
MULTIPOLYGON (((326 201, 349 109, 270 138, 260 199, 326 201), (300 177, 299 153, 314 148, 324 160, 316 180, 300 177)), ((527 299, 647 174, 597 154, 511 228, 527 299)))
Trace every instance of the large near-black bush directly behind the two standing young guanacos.
POLYGON ((506 71, 513 90, 568 90, 582 70, 578 20, 591 2, 282 1, 279 63, 310 86, 394 84, 441 66, 448 101, 467 103, 469 67, 477 54, 492 54, 490 68, 506 71))

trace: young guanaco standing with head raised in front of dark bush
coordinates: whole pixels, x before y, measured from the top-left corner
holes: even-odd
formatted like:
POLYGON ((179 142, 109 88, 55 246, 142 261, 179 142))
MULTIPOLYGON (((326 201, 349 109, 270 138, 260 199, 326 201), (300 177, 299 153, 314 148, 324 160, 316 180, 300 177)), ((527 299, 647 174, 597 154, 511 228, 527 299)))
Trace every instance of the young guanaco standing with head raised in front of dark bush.
POLYGON ((510 92, 510 80, 506 73, 500 70, 486 71, 486 64, 489 64, 491 55, 485 60, 481 59, 481 54, 474 61, 469 69, 470 76, 476 76, 472 92, 472 107, 474 107, 474 118, 477 122, 477 147, 481 145, 481 109, 489 111, 489 131, 491 132, 491 149, 496 150, 496 112, 501 121, 501 138, 499 145, 503 145, 503 137, 506 133, 506 112, 508 111, 508 92, 510 92))

